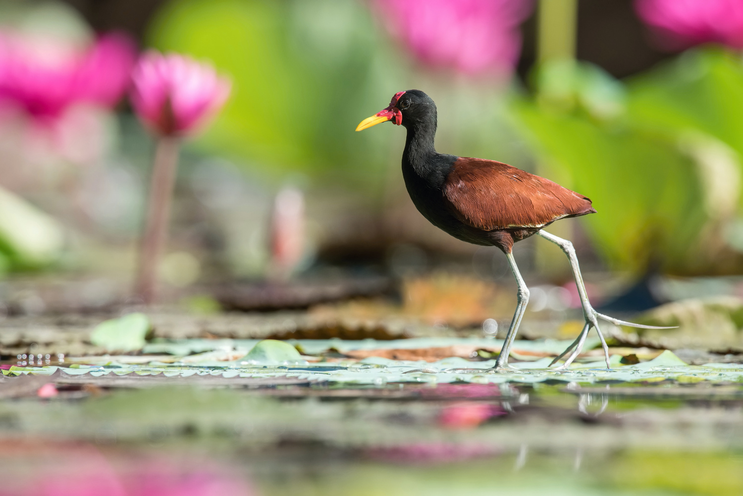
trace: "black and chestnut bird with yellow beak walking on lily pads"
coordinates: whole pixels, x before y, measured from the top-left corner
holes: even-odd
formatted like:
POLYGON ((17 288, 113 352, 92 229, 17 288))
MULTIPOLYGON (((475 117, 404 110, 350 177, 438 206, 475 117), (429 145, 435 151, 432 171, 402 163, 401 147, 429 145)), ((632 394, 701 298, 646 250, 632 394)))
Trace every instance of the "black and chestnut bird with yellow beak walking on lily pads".
POLYGON ((583 329, 575 341, 548 367, 569 353, 568 358, 555 367, 556 370, 567 368, 583 350, 585 338, 593 328, 599 335, 606 367, 611 368, 609 347, 599 327, 599 319, 643 329, 669 329, 620 321, 597 312, 585 292, 572 242, 544 231, 559 219, 596 213, 591 199, 499 161, 437 152, 434 146, 436 104, 424 91, 398 91, 386 109, 362 120, 356 130, 363 131, 384 122, 407 129, 403 180, 418 211, 433 225, 457 239, 500 248, 508 260, 518 286, 516 312, 493 370, 513 368, 508 364, 508 355, 529 300, 528 286, 513 259, 513 244, 534 234, 558 245, 568 257, 585 318, 583 329))

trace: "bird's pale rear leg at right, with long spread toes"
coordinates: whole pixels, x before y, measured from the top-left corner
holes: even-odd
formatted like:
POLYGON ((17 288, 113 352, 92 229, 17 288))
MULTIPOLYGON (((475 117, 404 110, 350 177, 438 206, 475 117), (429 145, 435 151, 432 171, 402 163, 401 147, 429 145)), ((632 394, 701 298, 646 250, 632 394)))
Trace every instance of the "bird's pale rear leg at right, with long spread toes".
MULTIPOLYGON (((565 252, 565 255, 568 257, 568 261, 570 262, 570 267, 573 270, 573 278, 575 279, 575 286, 578 288, 578 294, 580 295, 580 303, 581 306, 583 306, 583 317, 585 318, 585 326, 583 326, 583 331, 580 333, 578 338, 571 344, 567 350, 562 352, 557 358, 552 361, 552 364, 557 362, 560 358, 568 354, 570 350, 573 347, 576 347, 576 350, 571 354, 571 356, 568 358, 567 361, 565 361, 565 364, 562 367, 567 367, 568 364, 570 364, 575 357, 580 353, 581 349, 583 348, 583 343, 585 342, 585 336, 588 335, 588 331, 591 330, 591 327, 596 328, 596 332, 599 335, 599 339, 601 340, 601 346, 604 350, 604 358, 606 358, 606 368, 611 368, 609 365, 609 347, 606 345, 606 340, 603 337, 603 334, 601 333, 601 329, 599 328, 599 318, 602 318, 605 321, 609 321, 611 323, 614 323, 615 325, 623 325, 623 326, 631 326, 631 327, 638 327, 640 329, 672 329, 671 327, 658 327, 658 326, 645 326, 640 323, 632 323, 632 322, 626 322, 626 321, 620 321, 617 318, 609 317, 608 315, 600 314, 599 312, 596 312, 594 310, 594 307, 591 306, 591 302, 588 301, 588 293, 585 292, 585 283, 583 283, 583 275, 580 274, 580 266, 578 265, 578 257, 575 254, 575 248, 573 247, 573 243, 568 241, 568 239, 562 239, 554 234, 550 234, 545 231, 539 231, 539 236, 542 236, 543 238, 547 239, 548 241, 554 242, 554 244, 558 245, 560 248, 562 248, 562 251, 565 252)), ((551 365, 551 364, 550 364, 551 365)))

